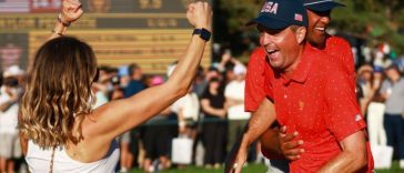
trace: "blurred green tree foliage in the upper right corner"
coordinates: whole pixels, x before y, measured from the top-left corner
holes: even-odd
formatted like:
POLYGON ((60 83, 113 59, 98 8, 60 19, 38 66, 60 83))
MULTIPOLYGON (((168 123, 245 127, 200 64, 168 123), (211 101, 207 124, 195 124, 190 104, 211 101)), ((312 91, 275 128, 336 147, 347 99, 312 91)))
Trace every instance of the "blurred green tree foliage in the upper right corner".
POLYGON ((404 52, 404 2, 401 0, 341 0, 345 8, 333 11, 333 27, 367 40, 387 41, 393 49, 404 52))

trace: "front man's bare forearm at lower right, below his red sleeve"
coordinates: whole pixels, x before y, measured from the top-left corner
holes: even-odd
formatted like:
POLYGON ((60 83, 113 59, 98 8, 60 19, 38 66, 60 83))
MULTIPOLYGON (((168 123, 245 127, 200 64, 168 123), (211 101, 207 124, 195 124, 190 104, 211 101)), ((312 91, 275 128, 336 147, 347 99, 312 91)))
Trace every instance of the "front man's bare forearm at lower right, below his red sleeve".
POLYGON ((340 142, 342 152, 319 172, 355 172, 367 165, 364 131, 357 131, 340 142))

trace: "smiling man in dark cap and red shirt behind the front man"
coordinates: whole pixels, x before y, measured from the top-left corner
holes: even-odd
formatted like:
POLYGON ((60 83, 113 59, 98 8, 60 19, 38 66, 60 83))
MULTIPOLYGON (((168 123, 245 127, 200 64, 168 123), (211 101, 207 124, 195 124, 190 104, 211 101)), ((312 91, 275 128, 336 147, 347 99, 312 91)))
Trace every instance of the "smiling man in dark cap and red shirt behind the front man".
MULTIPOLYGON (((331 10, 344 4, 335 1, 304 0, 309 17, 307 41, 311 47, 332 54, 331 61, 336 65, 343 65, 346 75, 352 79, 352 89, 355 89, 354 58, 350 44, 342 38, 330 35, 325 29, 331 22, 331 10)), ((254 112, 260 105, 264 94, 264 68, 266 54, 260 47, 250 57, 245 89, 245 111, 254 112)))

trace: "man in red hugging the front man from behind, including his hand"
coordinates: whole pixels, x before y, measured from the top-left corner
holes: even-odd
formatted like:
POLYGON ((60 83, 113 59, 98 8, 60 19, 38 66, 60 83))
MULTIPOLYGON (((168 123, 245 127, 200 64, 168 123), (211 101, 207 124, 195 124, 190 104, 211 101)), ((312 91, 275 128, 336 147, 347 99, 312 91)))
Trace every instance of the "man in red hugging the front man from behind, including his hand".
MULTIPOLYGON (((315 48, 319 51, 324 51, 329 54, 330 60, 335 63, 335 65, 342 65, 345 74, 351 80, 351 88, 355 91, 355 69, 353 62, 353 54, 351 51, 350 44, 342 38, 330 35, 325 32, 325 29, 330 24, 331 10, 335 7, 343 7, 344 4, 337 3, 335 1, 323 1, 323 0, 304 0, 304 7, 306 8, 309 16, 309 27, 307 27, 307 41, 311 47, 315 48)), ((246 89, 245 89, 245 110, 249 112, 256 111, 260 101, 264 98, 264 80, 260 80, 265 78, 264 75, 257 75, 260 73, 260 69, 263 70, 262 67, 265 67, 265 53, 262 48, 259 48, 254 51, 254 53, 250 58, 250 67, 249 67, 249 75, 246 77, 246 89), (259 68, 256 68, 259 67, 259 68)), ((282 136, 285 136, 282 134, 282 136)), ((262 136, 262 151, 266 157, 274 159, 276 154, 276 147, 270 145, 277 138, 277 133, 274 130, 269 129, 262 136)), ((291 140, 293 139, 293 133, 289 134, 284 139, 291 140)), ((291 149, 286 149, 286 151, 281 152, 286 159, 296 160, 300 155, 300 149, 294 147, 300 144, 296 142, 285 141, 285 146, 291 149)), ((283 141, 281 141, 283 143, 283 141)), ((282 156, 282 155, 281 155, 282 156)), ((372 157, 370 157, 372 159, 372 157)), ((273 160, 274 161, 274 160, 273 160)), ((373 162, 373 160, 372 160, 373 162)), ((279 163, 277 161, 275 164, 279 163)), ((275 165, 276 166, 276 165, 275 165)), ((281 165, 282 166, 282 165, 281 165)), ((285 171, 285 170, 284 170, 285 171)), ((287 171, 287 170, 286 170, 287 171)), ((286 172, 285 171, 285 172, 286 172)))

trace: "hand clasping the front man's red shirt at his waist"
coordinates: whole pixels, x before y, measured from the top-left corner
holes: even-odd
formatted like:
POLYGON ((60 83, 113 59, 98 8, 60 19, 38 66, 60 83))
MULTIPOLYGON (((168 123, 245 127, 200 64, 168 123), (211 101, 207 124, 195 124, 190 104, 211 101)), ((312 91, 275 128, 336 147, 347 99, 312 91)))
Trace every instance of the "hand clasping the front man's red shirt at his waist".
POLYGON ((303 144, 302 140, 293 141, 299 135, 299 132, 286 134, 286 126, 282 126, 279 135, 280 149, 282 154, 291 161, 299 160, 301 154, 304 153, 303 149, 300 149, 303 144))

